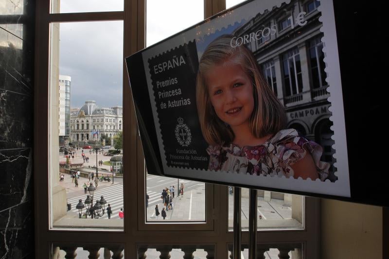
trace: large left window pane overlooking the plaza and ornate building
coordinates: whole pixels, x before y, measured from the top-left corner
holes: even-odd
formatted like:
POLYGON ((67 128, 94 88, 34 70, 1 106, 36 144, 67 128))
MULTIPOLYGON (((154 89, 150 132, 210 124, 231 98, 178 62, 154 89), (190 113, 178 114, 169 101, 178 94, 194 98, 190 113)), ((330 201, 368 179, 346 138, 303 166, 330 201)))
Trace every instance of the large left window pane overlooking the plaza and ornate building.
POLYGON ((111 122, 123 121, 123 21, 53 23, 51 35, 52 226, 123 229, 123 134, 111 122))

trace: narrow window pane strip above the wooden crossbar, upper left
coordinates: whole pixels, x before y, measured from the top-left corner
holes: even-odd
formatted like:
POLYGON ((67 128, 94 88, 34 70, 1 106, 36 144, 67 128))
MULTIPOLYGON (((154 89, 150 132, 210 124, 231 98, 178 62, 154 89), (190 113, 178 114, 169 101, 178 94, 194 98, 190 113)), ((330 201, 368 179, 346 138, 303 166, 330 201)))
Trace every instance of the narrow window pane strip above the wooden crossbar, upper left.
POLYGON ((51 13, 89 13, 123 11, 123 0, 52 0, 51 13))

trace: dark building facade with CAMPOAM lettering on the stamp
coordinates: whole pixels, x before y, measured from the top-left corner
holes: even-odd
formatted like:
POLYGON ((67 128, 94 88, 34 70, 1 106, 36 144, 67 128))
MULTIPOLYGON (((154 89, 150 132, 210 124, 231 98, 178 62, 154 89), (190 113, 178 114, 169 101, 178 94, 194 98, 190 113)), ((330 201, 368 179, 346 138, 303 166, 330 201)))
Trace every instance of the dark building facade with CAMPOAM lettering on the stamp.
POLYGON ((289 5, 289 9, 275 7, 248 20, 233 32, 235 44, 253 52, 269 87, 285 107, 287 127, 319 143, 322 159, 333 165, 320 2, 292 0, 289 5))

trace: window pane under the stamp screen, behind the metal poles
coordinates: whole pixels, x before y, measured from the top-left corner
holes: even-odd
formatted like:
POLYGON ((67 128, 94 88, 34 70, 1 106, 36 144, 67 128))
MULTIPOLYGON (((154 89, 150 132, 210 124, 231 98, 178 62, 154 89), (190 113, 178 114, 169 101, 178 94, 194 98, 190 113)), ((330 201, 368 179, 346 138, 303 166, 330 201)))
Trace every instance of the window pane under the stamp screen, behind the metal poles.
MULTIPOLYGON (((241 190, 242 229, 248 229, 248 189, 241 190)), ((228 227, 233 228, 233 188, 229 187, 228 227)), ((258 190, 257 227, 260 229, 287 229, 303 227, 303 196, 258 190)))

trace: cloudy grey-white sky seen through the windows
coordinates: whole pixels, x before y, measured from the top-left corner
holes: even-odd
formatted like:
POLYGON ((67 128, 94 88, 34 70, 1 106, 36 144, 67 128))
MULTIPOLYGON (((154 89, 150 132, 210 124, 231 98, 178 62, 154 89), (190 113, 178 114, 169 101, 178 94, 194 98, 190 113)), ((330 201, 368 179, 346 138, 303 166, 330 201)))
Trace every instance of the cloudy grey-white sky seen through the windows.
MULTIPOLYGON (((227 7, 241 0, 228 0, 227 7)), ((146 44, 203 19, 203 0, 147 0, 146 44)), ((123 0, 61 0, 62 13, 121 11, 123 0)), ((60 24, 59 73, 71 76, 71 108, 123 105, 123 22, 60 24)))

